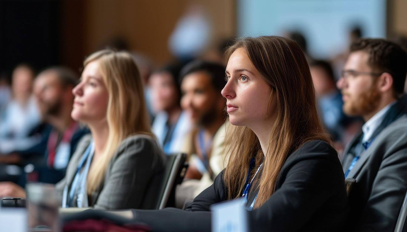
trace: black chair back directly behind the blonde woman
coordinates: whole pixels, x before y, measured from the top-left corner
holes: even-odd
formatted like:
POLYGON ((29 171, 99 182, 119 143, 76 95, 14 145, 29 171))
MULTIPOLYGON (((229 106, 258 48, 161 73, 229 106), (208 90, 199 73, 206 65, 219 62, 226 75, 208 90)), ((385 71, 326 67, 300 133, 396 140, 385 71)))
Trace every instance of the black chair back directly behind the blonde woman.
POLYGON ((186 169, 188 169, 188 163, 185 160, 186 154, 184 153, 167 156, 156 209, 175 207, 175 187, 184 180, 186 169))

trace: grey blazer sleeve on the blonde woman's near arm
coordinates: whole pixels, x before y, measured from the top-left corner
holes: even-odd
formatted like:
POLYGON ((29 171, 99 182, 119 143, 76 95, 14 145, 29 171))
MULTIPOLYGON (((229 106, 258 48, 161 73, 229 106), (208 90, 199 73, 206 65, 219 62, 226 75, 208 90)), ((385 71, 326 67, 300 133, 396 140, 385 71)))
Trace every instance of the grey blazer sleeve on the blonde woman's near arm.
MULTIPOLYGON (((98 195, 96 209, 140 208, 151 176, 158 165, 160 149, 151 139, 129 137, 116 152, 108 167, 104 186, 98 195)), ((162 162, 160 163, 162 165, 162 162)))

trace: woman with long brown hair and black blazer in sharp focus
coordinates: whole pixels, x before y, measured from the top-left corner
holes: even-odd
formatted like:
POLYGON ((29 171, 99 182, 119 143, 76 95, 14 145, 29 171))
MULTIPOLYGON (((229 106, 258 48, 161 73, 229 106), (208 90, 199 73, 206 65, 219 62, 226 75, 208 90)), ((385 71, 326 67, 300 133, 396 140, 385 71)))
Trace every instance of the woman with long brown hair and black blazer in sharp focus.
POLYGON ((344 173, 319 121, 304 53, 274 36, 241 38, 227 52, 228 166, 186 210, 135 209, 133 221, 157 232, 210 231, 210 206, 243 197, 249 231, 341 230, 344 173))

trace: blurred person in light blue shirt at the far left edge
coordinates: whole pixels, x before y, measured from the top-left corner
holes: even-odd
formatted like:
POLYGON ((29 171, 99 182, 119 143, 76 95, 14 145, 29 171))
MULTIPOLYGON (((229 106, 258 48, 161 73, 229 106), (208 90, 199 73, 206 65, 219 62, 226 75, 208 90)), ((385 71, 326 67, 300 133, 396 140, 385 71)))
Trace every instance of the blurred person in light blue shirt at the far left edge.
POLYGON ((4 110, 0 121, 0 152, 8 153, 16 148, 28 148, 38 142, 28 138, 40 124, 41 117, 32 96, 34 71, 28 65, 18 65, 12 76, 12 100, 4 110))

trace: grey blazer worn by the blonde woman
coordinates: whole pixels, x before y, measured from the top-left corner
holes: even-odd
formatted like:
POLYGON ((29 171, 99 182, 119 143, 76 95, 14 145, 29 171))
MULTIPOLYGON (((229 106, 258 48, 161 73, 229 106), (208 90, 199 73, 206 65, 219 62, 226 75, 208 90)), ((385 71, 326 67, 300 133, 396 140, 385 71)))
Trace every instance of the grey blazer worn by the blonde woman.
MULTIPOLYGON (((70 191, 79 161, 91 140, 88 135, 79 142, 65 178, 56 184, 61 193, 65 186, 70 191)), ((98 209, 155 208, 165 158, 155 139, 148 135, 124 139, 107 166, 104 181, 88 196, 89 206, 98 209)))

